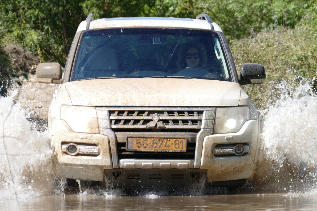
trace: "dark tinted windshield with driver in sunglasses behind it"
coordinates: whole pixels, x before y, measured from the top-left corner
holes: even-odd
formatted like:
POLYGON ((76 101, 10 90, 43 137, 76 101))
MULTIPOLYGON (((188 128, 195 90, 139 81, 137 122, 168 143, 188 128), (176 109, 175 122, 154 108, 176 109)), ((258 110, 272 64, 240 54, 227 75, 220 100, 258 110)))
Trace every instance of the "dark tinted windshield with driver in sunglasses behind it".
POLYGON ((71 80, 201 78, 231 81, 217 33, 175 28, 112 28, 81 34, 71 80))

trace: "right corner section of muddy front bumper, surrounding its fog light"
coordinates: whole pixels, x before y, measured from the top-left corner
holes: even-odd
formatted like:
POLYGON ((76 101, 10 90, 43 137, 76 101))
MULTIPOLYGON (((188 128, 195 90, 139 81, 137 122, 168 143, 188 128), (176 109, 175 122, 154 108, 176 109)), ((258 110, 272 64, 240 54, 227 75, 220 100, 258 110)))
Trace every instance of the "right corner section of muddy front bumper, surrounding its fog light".
POLYGON ((237 133, 213 134, 204 138, 200 169, 206 169, 209 182, 249 179, 257 159, 259 121, 246 121, 237 133), (219 144, 246 143, 249 152, 243 156, 215 157, 213 148, 219 144))

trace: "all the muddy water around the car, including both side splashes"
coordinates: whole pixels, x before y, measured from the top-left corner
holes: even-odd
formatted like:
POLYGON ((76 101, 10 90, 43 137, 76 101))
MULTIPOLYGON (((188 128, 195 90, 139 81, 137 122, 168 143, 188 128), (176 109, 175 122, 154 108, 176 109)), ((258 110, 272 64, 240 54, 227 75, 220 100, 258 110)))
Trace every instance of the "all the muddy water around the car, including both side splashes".
POLYGON ((315 210, 317 96, 301 82, 281 84, 281 99, 262 111, 254 177, 238 192, 191 189, 136 193, 96 188, 79 194, 54 174, 49 134, 27 121, 17 91, 0 97, 0 210, 315 210))

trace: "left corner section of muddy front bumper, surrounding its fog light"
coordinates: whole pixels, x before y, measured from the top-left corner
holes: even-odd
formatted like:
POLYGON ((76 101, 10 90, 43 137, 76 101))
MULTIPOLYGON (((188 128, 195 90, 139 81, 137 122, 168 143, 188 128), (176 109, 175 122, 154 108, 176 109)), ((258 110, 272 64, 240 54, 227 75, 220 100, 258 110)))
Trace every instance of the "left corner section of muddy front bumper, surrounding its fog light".
POLYGON ((55 169, 60 177, 103 181, 104 169, 112 169, 109 138, 101 134, 76 133, 64 120, 52 119, 50 124, 51 147, 55 155, 55 169), (63 143, 95 144, 99 156, 72 156, 62 152, 63 143))

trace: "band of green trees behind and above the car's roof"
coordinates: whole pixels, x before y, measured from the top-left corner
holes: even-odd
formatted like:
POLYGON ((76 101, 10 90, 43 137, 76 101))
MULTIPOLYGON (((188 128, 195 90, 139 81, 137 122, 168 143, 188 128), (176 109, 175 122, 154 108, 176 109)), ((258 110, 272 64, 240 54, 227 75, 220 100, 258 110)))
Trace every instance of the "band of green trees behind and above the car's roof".
POLYGON ((65 64, 76 28, 87 15, 173 16, 207 13, 229 38, 255 35, 263 28, 294 28, 314 1, 306 0, 0 0, 2 40, 37 52, 43 61, 65 64))

